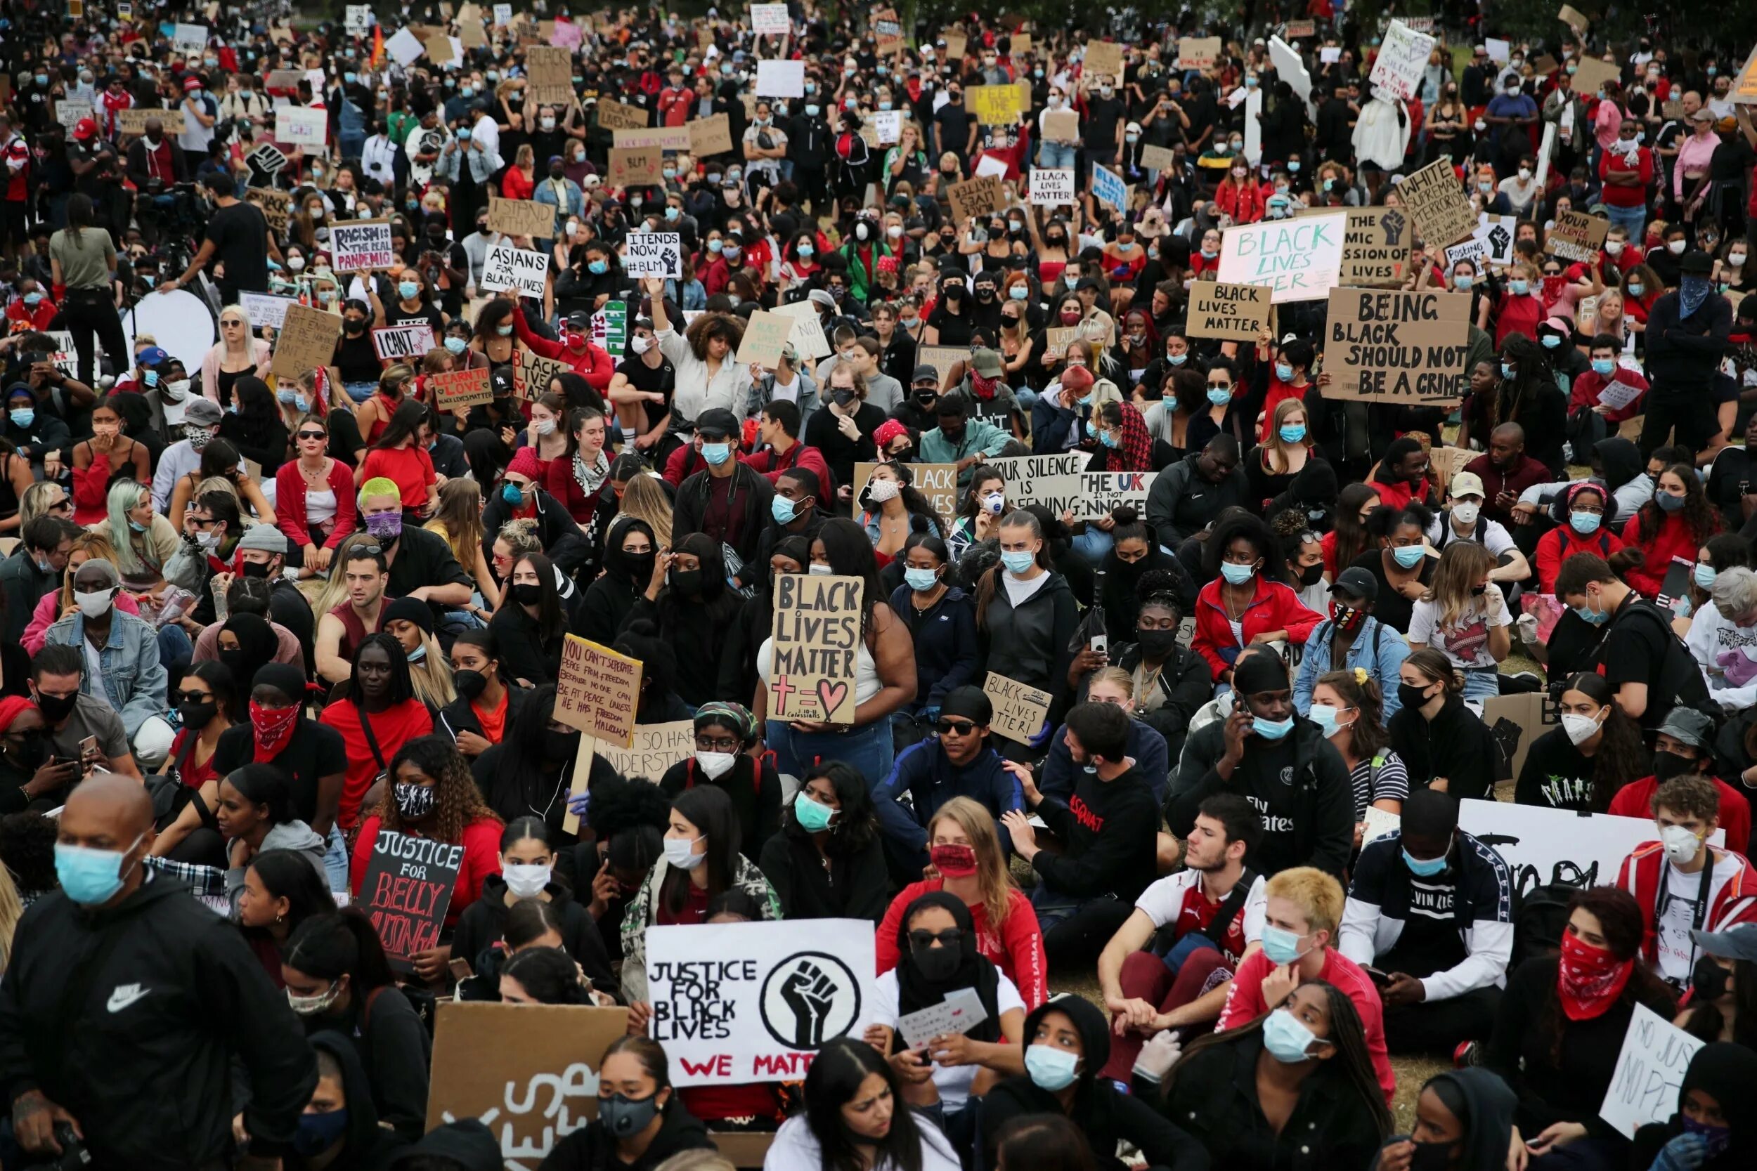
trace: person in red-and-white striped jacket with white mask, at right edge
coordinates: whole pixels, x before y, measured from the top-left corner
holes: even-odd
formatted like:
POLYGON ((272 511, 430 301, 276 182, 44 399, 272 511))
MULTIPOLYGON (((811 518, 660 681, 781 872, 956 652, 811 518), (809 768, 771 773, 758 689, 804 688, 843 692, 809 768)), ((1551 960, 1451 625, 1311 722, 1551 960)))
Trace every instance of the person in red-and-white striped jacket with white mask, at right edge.
POLYGON ((1616 885, 1641 908, 1641 955, 1662 980, 1687 988, 1701 955, 1697 930, 1757 922, 1757 871, 1745 855, 1708 844, 1720 829, 1720 795, 1706 776, 1680 776, 1653 795, 1659 841, 1636 846, 1616 885))

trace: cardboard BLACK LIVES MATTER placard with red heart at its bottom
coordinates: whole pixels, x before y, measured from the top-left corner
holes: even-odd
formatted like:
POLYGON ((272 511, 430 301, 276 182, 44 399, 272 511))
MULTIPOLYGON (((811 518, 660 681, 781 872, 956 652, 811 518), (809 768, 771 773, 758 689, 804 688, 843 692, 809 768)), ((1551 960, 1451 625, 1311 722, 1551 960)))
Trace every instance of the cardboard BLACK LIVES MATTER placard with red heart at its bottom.
POLYGON ((856 655, 861 646, 861 578, 775 578, 771 720, 854 723, 856 655))

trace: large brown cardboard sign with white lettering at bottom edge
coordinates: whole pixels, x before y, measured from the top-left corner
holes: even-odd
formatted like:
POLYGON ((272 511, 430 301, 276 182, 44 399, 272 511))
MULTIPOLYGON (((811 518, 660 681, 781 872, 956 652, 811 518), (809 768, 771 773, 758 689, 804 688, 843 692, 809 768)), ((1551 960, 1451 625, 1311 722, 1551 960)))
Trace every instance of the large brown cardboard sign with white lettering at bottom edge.
POLYGON ((627 1031, 625 1008, 439 1001, 427 1129, 480 1118, 506 1167, 534 1171, 597 1117, 604 1050, 627 1031))

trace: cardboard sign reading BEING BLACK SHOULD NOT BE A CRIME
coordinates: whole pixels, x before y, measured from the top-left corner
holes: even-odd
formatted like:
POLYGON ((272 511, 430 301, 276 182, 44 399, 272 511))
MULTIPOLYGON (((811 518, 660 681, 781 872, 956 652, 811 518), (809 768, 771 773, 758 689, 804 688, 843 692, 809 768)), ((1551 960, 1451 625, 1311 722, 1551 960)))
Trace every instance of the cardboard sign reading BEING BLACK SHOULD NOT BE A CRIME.
POLYGON ((1330 291, 1325 399, 1450 406, 1464 397, 1469 293, 1330 291))

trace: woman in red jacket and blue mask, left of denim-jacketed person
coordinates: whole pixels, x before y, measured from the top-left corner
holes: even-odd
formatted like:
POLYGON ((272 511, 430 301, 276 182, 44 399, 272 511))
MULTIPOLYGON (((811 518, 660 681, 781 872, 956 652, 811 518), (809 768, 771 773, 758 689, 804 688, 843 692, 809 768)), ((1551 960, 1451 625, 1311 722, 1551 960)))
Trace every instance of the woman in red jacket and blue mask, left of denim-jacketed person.
POLYGON ((1214 578, 1197 595, 1189 650, 1207 660, 1219 683, 1232 685, 1232 664, 1246 646, 1304 646, 1323 621, 1286 583, 1286 558, 1262 518, 1239 514, 1214 525, 1205 558, 1214 578))

